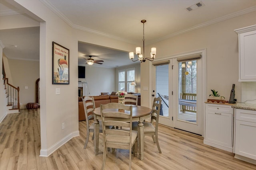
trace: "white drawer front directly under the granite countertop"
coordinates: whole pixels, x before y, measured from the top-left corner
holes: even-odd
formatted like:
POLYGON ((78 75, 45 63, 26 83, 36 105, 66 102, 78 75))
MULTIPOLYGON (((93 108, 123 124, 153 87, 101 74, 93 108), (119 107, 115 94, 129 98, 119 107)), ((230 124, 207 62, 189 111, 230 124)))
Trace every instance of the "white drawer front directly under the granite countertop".
POLYGON ((256 111, 246 109, 236 109, 236 120, 256 123, 256 111))

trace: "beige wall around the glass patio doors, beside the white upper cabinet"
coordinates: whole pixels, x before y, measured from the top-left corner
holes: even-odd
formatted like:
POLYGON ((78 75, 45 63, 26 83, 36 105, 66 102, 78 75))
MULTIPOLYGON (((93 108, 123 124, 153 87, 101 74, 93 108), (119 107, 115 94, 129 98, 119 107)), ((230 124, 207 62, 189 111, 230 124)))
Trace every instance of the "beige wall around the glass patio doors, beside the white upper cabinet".
MULTIPOLYGON (((157 58, 206 49, 206 98, 211 89, 229 100, 232 84, 236 99, 241 101, 241 82, 238 82, 238 35, 234 29, 256 24, 256 12, 221 21, 206 27, 150 45, 157 48, 157 58)), ((149 48, 146 48, 149 49, 149 48)), ((149 51, 146 51, 148 53, 149 51)), ((142 87, 151 84, 150 63, 141 65, 142 87)), ((149 91, 142 91, 142 106, 149 106, 149 91)))

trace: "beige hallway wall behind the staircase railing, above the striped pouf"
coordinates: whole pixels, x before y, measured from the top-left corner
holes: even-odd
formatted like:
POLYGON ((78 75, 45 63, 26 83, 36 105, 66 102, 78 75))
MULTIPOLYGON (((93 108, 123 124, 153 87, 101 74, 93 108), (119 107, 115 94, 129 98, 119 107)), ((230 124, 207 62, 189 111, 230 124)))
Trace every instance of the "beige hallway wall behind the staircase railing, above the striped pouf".
POLYGON ((20 108, 36 102, 36 80, 39 78, 39 62, 9 59, 10 72, 15 87, 20 87, 20 108), (25 86, 28 88, 25 89, 25 86))

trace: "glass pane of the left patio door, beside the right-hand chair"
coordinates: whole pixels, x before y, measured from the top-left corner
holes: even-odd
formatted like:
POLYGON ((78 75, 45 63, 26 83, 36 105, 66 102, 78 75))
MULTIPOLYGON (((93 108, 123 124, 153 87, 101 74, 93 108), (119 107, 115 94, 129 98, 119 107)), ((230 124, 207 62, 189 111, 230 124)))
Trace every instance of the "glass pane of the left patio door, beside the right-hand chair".
POLYGON ((160 115, 169 117, 169 71, 168 64, 156 66, 156 97, 161 97, 160 115))

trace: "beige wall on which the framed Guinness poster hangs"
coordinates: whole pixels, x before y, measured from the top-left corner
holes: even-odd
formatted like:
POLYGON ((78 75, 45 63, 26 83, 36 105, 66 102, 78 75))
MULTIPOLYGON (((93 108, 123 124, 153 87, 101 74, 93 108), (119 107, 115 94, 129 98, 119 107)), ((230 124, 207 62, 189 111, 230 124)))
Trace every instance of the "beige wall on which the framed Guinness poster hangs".
MULTIPOLYGON (((40 120, 41 156, 48 156, 78 131, 78 41, 123 51, 135 45, 71 28, 39 0, 14 0, 37 17, 40 22, 40 120), (70 50, 70 84, 52 84, 52 41, 70 50), (60 88, 60 95, 55 95, 60 88), (65 129, 61 129, 65 123, 65 129)), ((88 74, 88 72, 86 73, 88 74)), ((91 85, 89 84, 89 88, 91 85)), ((93 84, 93 86, 95 86, 93 84)))

